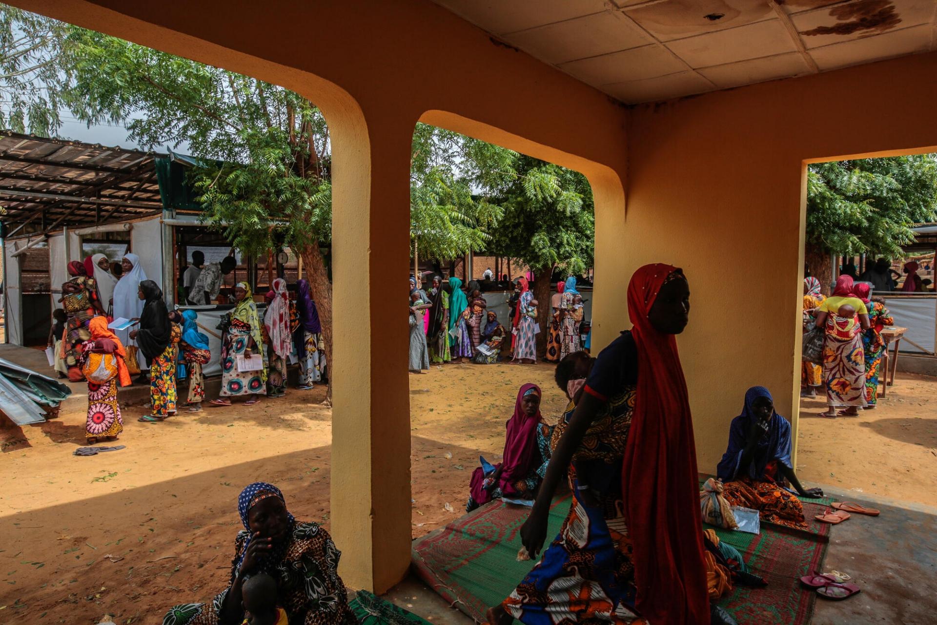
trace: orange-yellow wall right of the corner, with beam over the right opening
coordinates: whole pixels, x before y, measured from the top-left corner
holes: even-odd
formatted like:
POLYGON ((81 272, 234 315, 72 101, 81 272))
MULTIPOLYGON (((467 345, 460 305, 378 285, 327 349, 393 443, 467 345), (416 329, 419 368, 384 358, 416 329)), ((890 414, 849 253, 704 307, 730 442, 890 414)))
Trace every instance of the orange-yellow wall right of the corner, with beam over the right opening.
POLYGON ((749 386, 796 429, 805 161, 933 151, 935 101, 937 55, 924 54, 632 111, 622 253, 690 279, 678 342, 701 470, 749 386))

